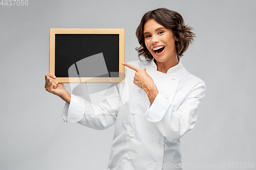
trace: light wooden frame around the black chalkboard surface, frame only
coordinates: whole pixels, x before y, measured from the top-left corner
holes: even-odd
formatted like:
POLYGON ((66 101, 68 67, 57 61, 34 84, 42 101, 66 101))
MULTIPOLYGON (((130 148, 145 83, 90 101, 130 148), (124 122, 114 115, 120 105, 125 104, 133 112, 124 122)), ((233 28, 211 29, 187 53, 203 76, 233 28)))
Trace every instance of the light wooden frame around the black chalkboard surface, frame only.
POLYGON ((58 83, 124 83, 124 65, 122 65, 124 62, 124 29, 50 29, 49 73, 53 75, 55 75, 55 34, 119 34, 118 78, 57 77, 55 80, 58 83))

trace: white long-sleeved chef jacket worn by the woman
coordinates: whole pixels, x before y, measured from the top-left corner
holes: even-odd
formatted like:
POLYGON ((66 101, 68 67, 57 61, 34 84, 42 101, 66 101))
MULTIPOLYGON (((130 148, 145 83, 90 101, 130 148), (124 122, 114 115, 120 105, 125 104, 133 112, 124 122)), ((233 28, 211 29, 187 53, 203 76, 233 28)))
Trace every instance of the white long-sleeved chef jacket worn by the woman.
POLYGON ((182 169, 180 138, 195 126, 205 83, 179 62, 167 73, 154 60, 132 61, 146 68, 159 93, 153 104, 133 83, 135 70, 125 67, 125 83, 106 90, 93 105, 71 94, 62 112, 65 122, 103 130, 116 124, 108 169, 182 169), (121 102, 120 102, 121 101, 121 102))

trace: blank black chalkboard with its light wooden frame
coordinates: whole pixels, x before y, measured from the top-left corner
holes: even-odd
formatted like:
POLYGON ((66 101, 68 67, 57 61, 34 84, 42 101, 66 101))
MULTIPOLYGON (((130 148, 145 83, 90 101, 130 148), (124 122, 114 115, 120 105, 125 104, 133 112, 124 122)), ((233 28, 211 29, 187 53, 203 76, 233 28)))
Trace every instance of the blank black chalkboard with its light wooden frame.
POLYGON ((124 29, 50 29, 49 73, 59 83, 124 83, 124 29))

